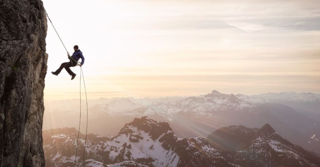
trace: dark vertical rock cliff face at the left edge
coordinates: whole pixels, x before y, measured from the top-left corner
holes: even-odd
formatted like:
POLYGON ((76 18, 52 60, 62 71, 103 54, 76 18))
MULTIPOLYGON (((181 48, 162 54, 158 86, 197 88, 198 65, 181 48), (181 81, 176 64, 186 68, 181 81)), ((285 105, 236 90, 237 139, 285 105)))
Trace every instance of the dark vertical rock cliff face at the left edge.
POLYGON ((44 166, 46 32, 41 0, 0 0, 0 167, 44 166))

